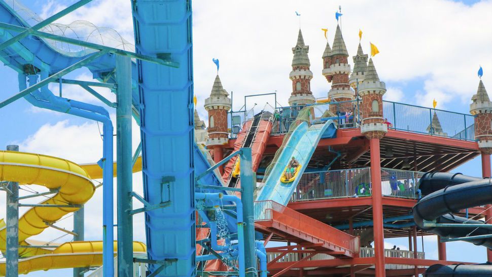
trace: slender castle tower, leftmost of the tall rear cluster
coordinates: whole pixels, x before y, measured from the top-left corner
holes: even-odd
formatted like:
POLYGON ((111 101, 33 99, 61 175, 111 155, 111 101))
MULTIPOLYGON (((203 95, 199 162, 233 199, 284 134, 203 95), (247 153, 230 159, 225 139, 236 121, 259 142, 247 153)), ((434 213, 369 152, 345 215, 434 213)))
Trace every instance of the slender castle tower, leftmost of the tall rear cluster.
POLYGON ((292 93, 289 97, 289 105, 305 105, 315 102, 311 92, 312 72, 309 70, 309 46, 304 44, 302 32, 299 29, 297 44, 292 48, 294 58, 292 59, 292 71, 289 78, 292 80, 292 93))

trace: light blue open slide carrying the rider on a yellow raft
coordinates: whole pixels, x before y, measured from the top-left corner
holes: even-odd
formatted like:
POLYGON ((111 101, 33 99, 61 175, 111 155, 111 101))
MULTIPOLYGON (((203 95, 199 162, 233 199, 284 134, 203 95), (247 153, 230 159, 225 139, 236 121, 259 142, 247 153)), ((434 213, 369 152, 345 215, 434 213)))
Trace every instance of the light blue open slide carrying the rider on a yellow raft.
POLYGON ((311 126, 306 122, 299 124, 290 135, 276 164, 265 180, 265 186, 258 194, 256 200, 273 200, 277 203, 287 205, 321 137, 334 137, 336 135, 336 129, 335 123, 332 120, 311 126), (280 178, 284 174, 285 167, 292 157, 296 158, 301 169, 294 181, 282 183, 280 182, 280 178))

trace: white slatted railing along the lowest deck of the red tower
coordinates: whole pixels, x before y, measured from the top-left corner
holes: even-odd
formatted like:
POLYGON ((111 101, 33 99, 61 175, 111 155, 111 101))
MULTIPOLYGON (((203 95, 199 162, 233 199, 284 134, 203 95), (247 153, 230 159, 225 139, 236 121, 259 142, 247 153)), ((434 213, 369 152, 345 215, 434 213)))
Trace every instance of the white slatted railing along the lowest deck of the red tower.
MULTIPOLYGON (((267 261, 270 262, 277 258, 280 255, 283 255, 284 252, 267 252, 267 261)), ((307 256, 305 253, 288 253, 284 257, 280 258, 277 262, 297 262, 303 257, 307 256)), ((361 258, 370 258, 374 257, 374 248, 369 247, 361 247, 359 257, 361 258)), ((413 259, 413 251, 407 250, 393 250, 393 249, 384 249, 384 257, 388 258, 407 258, 413 259)), ((424 260, 426 255, 424 252, 417 252, 417 259, 424 260)), ((328 254, 315 254, 308 258, 308 261, 318 261, 318 260, 333 260, 335 259, 333 256, 328 254)), ((398 266, 399 268, 413 268, 413 265, 394 265, 387 264, 388 266, 398 266), (403 267, 402 267, 403 266, 403 267)))

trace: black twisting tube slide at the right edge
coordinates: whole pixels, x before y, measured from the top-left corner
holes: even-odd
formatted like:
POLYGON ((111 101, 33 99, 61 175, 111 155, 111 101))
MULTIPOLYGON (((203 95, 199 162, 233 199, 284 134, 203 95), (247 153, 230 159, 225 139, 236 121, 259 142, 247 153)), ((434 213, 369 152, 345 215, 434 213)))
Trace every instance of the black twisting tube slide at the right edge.
MULTIPOLYGON (((463 237, 492 234, 492 229, 469 227, 424 227, 424 220, 436 223, 484 224, 483 221, 454 216, 469 207, 492 203, 492 182, 452 173, 426 173, 419 181, 421 198, 413 207, 413 219, 418 227, 442 237, 463 237)), ((475 245, 492 249, 492 238, 466 240, 475 245)), ((425 276, 488 276, 492 277, 492 265, 433 265, 425 276)))

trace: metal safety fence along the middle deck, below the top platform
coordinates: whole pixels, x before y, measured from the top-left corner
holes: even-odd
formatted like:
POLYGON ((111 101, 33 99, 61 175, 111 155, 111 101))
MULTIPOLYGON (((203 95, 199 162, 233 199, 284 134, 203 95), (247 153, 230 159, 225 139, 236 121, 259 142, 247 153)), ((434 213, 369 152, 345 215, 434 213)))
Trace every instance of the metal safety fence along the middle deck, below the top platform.
MULTIPOLYGON (((305 201, 372 195, 370 167, 305 172, 291 201, 305 201)), ((419 197, 417 184, 423 172, 381 168, 383 196, 419 197)), ((258 180, 264 182, 263 180, 258 180)))

